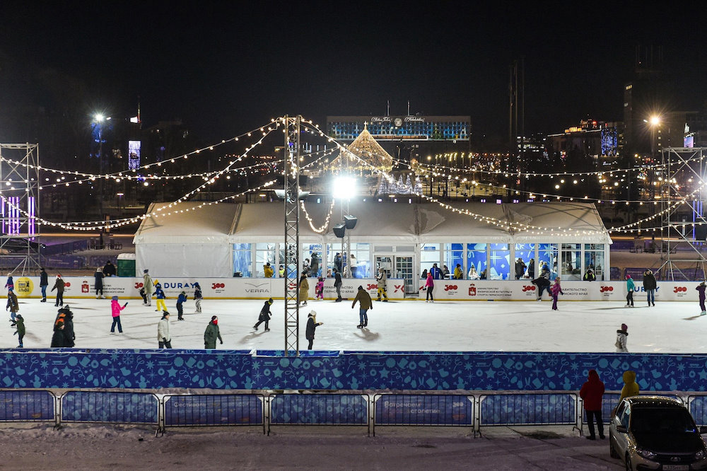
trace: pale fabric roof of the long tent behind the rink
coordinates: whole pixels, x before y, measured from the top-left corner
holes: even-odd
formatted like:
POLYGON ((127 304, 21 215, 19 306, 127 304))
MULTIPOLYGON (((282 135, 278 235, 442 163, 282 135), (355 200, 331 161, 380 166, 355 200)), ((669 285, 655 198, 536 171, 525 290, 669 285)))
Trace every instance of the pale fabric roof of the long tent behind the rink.
MULTIPOLYGON (((169 216, 145 219, 135 243, 276 243, 284 240, 284 207, 276 203, 153 204, 151 212, 169 216)), ((300 207, 300 240, 336 243, 333 226, 342 214, 358 219, 353 243, 612 243, 594 204, 535 202, 515 204, 352 201, 305 202, 300 207), (450 209, 451 208, 451 209, 450 209), (328 219, 327 219, 328 216, 328 219), (309 218, 309 219, 308 219, 309 218), (311 221, 310 221, 311 220, 311 221), (520 224, 520 226, 514 226, 520 224), (315 231, 314 228, 320 231, 315 231)))

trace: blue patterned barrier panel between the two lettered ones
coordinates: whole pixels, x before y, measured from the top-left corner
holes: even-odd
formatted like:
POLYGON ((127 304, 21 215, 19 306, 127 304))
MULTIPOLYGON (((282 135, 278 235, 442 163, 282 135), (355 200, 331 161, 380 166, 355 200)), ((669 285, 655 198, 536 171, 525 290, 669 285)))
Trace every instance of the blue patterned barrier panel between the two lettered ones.
POLYGON ((283 394, 271 397, 271 424, 366 425, 366 397, 355 394, 283 394))

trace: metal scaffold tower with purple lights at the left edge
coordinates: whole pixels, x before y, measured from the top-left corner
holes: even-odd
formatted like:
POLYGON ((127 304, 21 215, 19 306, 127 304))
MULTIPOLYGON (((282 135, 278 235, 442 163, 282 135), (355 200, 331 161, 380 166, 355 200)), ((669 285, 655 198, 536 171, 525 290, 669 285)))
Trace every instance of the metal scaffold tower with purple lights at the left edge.
POLYGON ((0 144, 0 267, 35 274, 40 264, 39 144, 0 144))

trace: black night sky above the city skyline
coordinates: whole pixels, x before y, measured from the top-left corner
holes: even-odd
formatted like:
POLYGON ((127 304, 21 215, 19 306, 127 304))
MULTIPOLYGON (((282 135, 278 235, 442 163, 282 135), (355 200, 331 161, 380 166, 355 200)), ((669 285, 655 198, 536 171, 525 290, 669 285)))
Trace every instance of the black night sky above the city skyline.
POLYGON ((672 107, 707 101, 699 3, 417 3, 3 1, 0 107, 49 105, 61 74, 87 110, 128 117, 140 96, 144 125, 179 118, 207 140, 284 114, 381 115, 387 100, 507 136, 509 66, 525 59, 526 130, 554 133, 622 119, 638 44, 663 47, 672 107))

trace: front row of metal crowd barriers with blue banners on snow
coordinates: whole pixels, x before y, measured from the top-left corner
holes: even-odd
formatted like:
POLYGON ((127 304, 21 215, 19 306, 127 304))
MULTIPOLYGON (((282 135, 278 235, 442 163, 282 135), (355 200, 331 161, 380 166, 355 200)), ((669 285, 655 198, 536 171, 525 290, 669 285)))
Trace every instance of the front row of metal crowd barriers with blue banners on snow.
MULTIPOLYGON (((650 394, 650 392, 648 392, 650 394)), ((657 393, 661 395, 660 393, 657 393)), ((607 424, 619 392, 607 391, 602 418, 607 424)), ((680 400, 698 425, 707 425, 707 392, 680 400)), ((153 392, 104 390, 0 389, 0 422, 154 424, 166 427, 271 425, 471 427, 474 436, 486 426, 571 425, 583 434, 583 401, 577 392, 312 392, 268 394, 238 392, 158 397, 153 392)))

